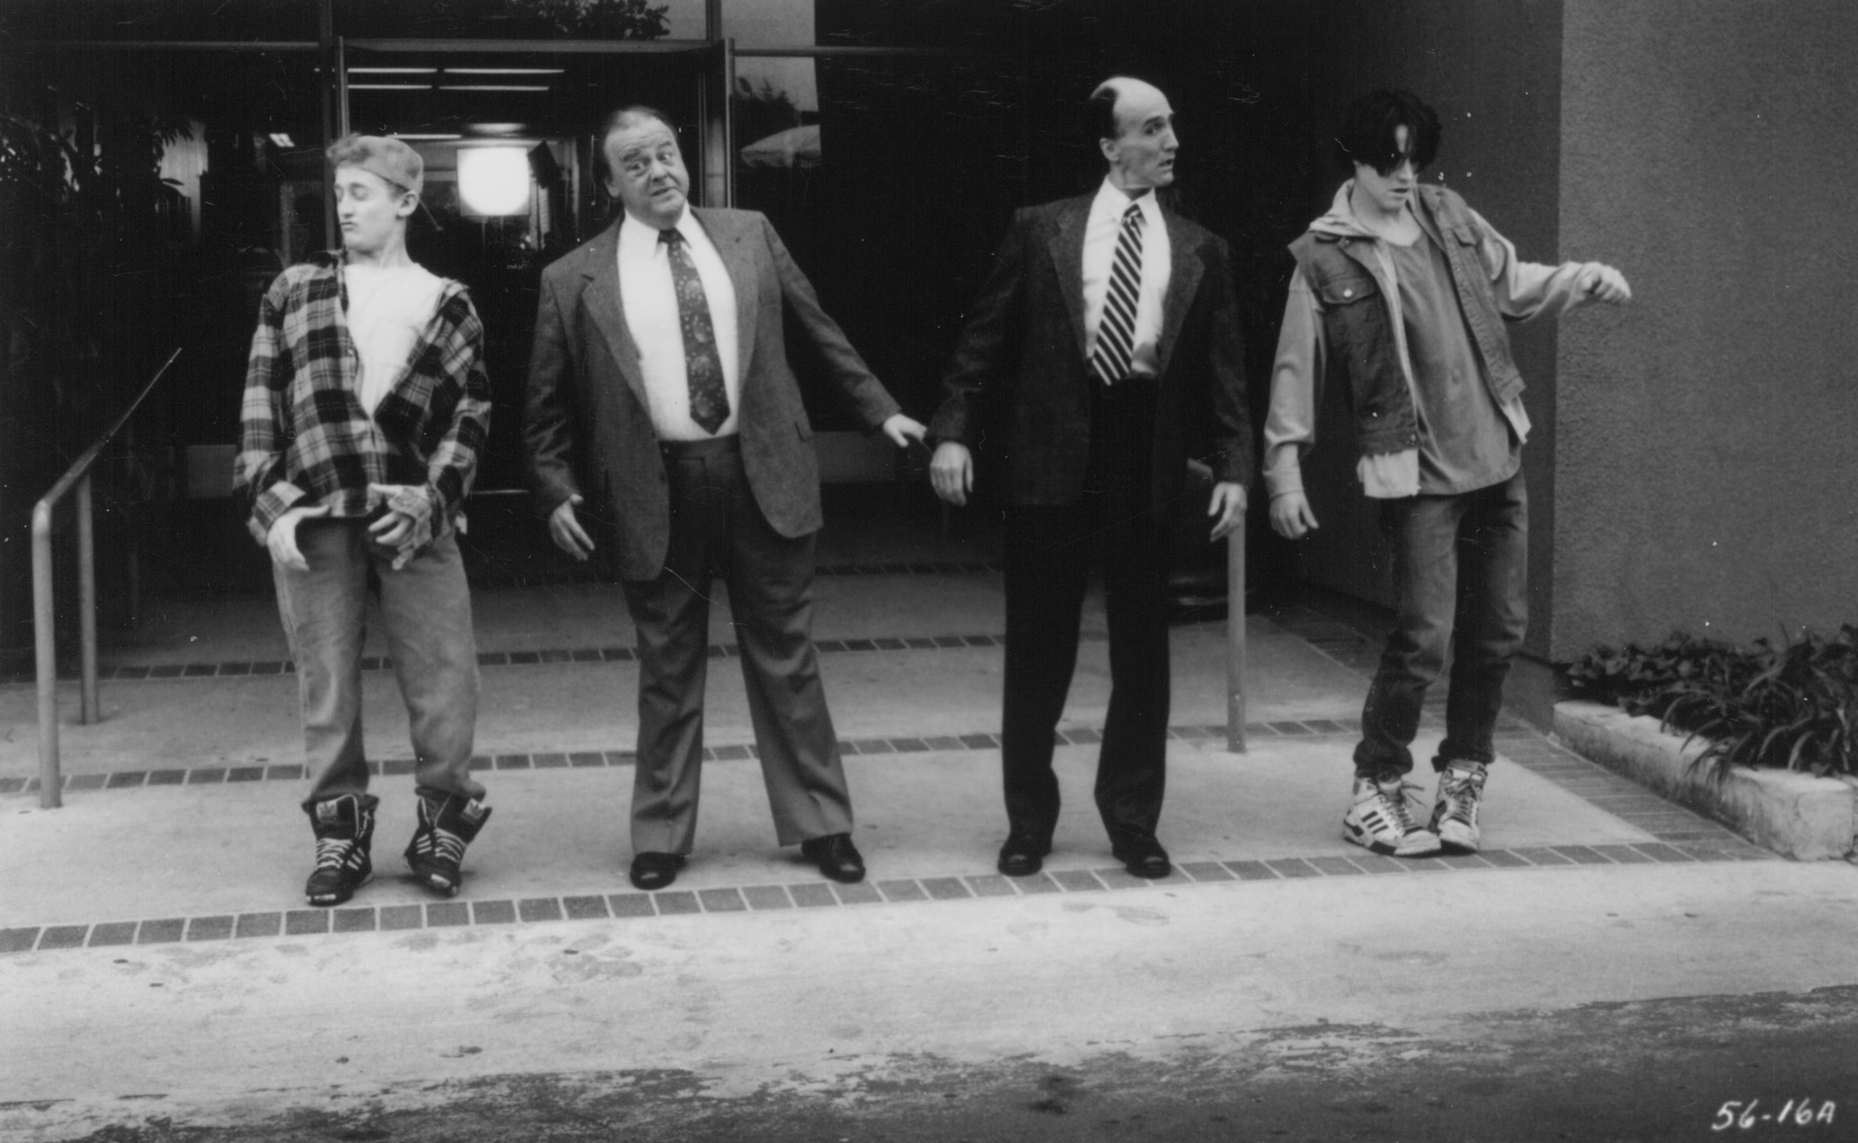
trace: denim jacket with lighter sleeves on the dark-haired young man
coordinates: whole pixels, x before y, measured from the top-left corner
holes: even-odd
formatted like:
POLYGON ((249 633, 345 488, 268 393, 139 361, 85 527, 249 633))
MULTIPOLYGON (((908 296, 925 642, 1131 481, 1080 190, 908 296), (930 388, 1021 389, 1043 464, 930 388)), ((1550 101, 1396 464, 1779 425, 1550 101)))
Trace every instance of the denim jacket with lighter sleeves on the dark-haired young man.
MULTIPOLYGON (((1271 496, 1301 493, 1301 455, 1315 444, 1325 379, 1345 385, 1362 450, 1356 474, 1369 496, 1420 491, 1420 420, 1399 284, 1386 243, 1356 221, 1353 182, 1328 214, 1291 243, 1291 279, 1271 377, 1265 422, 1265 483, 1271 496)), ((1529 435, 1522 374, 1505 322, 1559 314, 1577 305, 1581 264, 1520 262, 1516 247, 1455 191, 1421 184, 1414 216, 1446 251, 1466 331, 1485 383, 1518 439, 1529 435)))

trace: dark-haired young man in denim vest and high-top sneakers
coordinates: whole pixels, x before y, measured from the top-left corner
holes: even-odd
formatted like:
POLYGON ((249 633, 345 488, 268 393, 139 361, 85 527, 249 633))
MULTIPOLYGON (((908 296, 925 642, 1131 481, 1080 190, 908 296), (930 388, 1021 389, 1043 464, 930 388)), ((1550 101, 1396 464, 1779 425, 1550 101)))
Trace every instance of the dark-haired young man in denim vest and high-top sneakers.
POLYGON ((1503 680, 1527 624, 1529 416, 1505 322, 1631 299, 1611 266, 1524 262, 1464 199, 1421 184, 1438 136, 1438 115, 1408 91, 1373 91, 1349 110, 1336 143, 1354 178, 1291 243, 1265 422, 1271 526, 1301 539, 1317 526, 1301 457, 1315 444, 1325 381, 1354 416, 1354 472, 1380 506, 1399 615, 1362 708, 1341 836, 1395 857, 1479 847, 1503 680), (1447 645, 1438 794, 1420 825, 1407 805, 1408 747, 1447 645))

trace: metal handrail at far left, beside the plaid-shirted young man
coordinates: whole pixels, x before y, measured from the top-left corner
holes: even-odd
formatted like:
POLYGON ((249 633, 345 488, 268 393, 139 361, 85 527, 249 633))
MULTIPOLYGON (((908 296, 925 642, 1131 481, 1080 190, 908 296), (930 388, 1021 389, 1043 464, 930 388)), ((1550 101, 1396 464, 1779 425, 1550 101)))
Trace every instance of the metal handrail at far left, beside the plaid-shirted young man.
POLYGON ((91 466, 104 446, 141 409, 154 387, 167 375, 180 349, 167 355, 162 368, 149 377, 128 409, 115 418, 95 444, 84 450, 71 468, 58 478, 52 491, 32 506, 32 634, 39 660, 39 805, 54 810, 63 805, 63 779, 58 771, 58 643, 52 611, 52 509, 72 487, 78 491, 78 624, 82 647, 82 706, 80 721, 97 721, 97 537, 91 528, 91 466))

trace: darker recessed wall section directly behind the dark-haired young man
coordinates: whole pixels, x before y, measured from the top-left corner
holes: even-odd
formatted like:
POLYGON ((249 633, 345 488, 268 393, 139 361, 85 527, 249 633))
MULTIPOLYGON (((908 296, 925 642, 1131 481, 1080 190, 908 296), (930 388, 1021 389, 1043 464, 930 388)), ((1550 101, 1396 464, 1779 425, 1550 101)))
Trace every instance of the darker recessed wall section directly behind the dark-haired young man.
MULTIPOLYGON (((1321 6, 1312 63, 1323 93, 1315 108, 1323 141, 1349 102, 1373 87, 1407 87, 1446 125, 1427 178, 1446 177, 1509 236, 1524 258, 1555 262, 1557 164, 1561 151, 1561 4, 1555 0, 1354 0, 1321 6)), ((1312 217, 1343 178, 1332 169, 1312 188, 1312 217)), ((1524 450, 1531 498, 1531 649, 1546 650, 1551 613, 1555 520, 1555 329, 1512 329, 1535 433, 1524 450)), ((1338 439, 1330 407, 1306 478, 1323 522, 1299 558, 1308 580, 1388 602, 1384 546, 1354 481, 1353 439, 1338 439)))

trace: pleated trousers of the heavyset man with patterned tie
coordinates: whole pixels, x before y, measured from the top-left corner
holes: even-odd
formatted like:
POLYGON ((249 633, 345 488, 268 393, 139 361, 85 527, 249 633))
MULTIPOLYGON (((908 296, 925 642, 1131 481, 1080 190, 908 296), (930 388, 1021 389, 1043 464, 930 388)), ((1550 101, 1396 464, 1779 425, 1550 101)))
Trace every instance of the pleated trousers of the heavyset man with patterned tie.
POLYGON ((671 548, 656 580, 624 585, 639 632, 632 847, 689 853, 697 833, 712 576, 728 587, 777 840, 849 833, 851 797, 812 643, 814 537, 788 539, 767 524, 734 437, 667 442, 663 452, 671 548))

